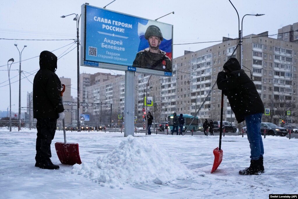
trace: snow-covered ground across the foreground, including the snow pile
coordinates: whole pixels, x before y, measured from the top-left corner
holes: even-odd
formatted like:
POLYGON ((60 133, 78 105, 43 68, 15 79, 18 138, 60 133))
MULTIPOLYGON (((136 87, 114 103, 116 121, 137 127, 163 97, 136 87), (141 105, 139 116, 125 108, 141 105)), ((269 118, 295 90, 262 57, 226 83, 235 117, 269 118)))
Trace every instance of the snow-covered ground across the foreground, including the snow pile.
MULTIPOLYGON (((222 138, 223 161, 210 173, 219 136, 66 132, 79 143, 81 165, 63 165, 55 142, 52 162, 35 164, 35 130, 0 129, 0 198, 269 198, 298 194, 298 139, 266 136, 265 173, 238 175, 249 166, 246 135, 222 138)), ((238 135, 238 134, 237 134, 238 135)))

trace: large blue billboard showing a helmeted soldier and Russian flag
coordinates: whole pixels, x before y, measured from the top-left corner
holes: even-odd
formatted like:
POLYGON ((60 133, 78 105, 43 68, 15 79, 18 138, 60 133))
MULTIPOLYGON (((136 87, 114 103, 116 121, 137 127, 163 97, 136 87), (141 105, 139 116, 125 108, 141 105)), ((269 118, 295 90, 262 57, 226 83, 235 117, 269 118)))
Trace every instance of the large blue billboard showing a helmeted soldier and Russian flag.
POLYGON ((82 5, 82 66, 172 76, 173 25, 82 5))

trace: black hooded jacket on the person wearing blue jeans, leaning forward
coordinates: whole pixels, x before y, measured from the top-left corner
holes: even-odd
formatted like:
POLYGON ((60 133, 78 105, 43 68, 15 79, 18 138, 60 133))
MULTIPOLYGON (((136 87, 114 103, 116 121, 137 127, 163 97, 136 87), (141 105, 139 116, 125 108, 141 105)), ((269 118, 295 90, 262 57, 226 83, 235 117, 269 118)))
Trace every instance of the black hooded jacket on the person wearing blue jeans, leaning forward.
POLYGON ((260 95, 253 81, 241 69, 238 60, 230 58, 224 64, 224 69, 228 69, 230 73, 218 73, 217 87, 224 90, 238 123, 244 121, 247 115, 263 113, 264 104, 260 95))

